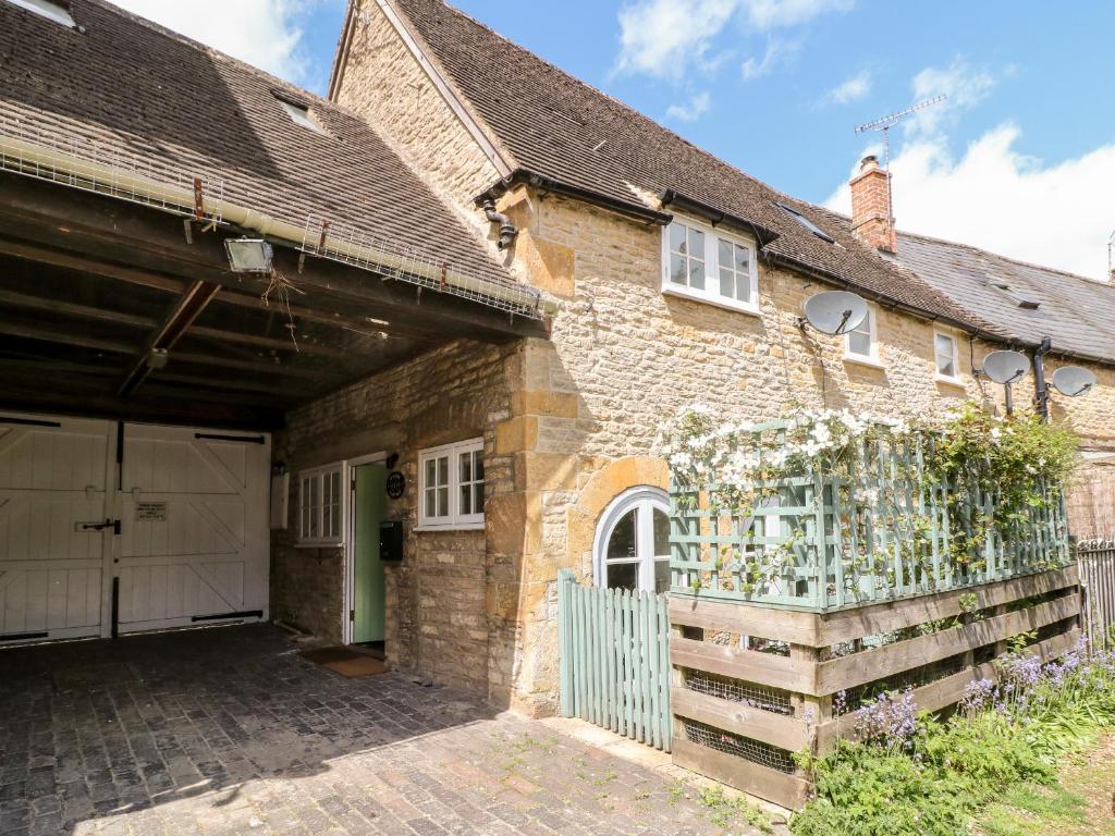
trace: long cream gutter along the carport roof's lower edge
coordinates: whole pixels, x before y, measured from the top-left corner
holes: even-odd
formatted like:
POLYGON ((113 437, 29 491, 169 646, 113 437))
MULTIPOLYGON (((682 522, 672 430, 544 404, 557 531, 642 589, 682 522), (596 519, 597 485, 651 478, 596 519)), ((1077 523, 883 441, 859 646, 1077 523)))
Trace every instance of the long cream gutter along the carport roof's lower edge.
MULTIPOLYGON (((156 208, 158 208, 158 204, 161 203, 180 206, 196 205, 194 192, 181 186, 138 177, 109 165, 84 159, 67 152, 56 150, 26 139, 0 135, 0 159, 4 157, 18 161, 18 165, 11 166, 10 171, 31 175, 39 179, 49 179, 61 185, 66 185, 69 182, 89 183, 93 187, 88 191, 108 195, 125 192, 129 195, 151 201, 148 205, 153 205, 156 208), (43 176, 43 171, 48 172, 49 176, 43 176), (104 187, 97 188, 98 184, 104 187)), ((272 239, 294 249, 301 250, 304 246, 304 225, 295 226, 285 221, 274 218, 271 215, 224 200, 203 197, 202 201, 201 208, 206 215, 220 217, 222 222, 251 230, 261 236, 272 239)), ((135 202, 144 203, 144 201, 135 202)), ((539 312, 552 314, 558 311, 556 302, 544 299, 539 290, 530 285, 504 286, 497 282, 488 282, 448 268, 443 272, 440 269, 416 264, 413 260, 401 257, 379 247, 355 244, 341 239, 330 237, 328 234, 323 236, 321 245, 328 245, 330 250, 355 261, 392 268, 403 273, 419 275, 435 283, 452 284, 455 288, 504 302, 522 304, 522 293, 525 292, 535 297, 536 310, 539 312)))

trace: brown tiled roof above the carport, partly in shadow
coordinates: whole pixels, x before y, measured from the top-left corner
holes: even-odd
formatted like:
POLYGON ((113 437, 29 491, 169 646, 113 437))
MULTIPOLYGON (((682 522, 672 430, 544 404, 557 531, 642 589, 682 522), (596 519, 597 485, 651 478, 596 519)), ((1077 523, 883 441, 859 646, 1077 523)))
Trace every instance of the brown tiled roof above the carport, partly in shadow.
POLYGON ((358 116, 101 0, 69 9, 80 29, 0 2, 0 129, 221 178, 225 200, 277 218, 323 216, 514 281, 358 116), (309 107, 326 133, 295 125, 275 95, 309 107))

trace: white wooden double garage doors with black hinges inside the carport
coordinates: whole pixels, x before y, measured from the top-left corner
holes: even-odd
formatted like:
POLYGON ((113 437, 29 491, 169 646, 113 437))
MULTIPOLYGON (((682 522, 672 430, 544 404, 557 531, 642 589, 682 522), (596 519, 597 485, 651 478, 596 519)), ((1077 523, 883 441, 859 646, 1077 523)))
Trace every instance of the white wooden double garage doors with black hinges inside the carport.
POLYGON ((266 436, 0 415, 0 642, 259 620, 266 436))

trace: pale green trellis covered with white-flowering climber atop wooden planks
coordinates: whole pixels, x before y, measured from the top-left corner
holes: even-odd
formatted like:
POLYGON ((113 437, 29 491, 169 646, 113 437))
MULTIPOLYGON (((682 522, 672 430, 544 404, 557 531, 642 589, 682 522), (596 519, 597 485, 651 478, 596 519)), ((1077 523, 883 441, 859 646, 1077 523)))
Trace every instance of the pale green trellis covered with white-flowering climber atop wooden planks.
MULTIPOLYGON (((772 421, 753 431, 773 434, 777 444, 789 426, 772 421)), ((671 591, 826 612, 1070 562, 1059 490, 1043 486, 1045 502, 1005 529, 985 525, 999 496, 980 489, 981 463, 969 463, 958 484, 931 483, 928 444, 931 437, 861 438, 850 454, 854 480, 814 463, 757 484, 760 499, 745 509, 712 507, 715 484, 699 489, 672 484, 671 591), (950 504, 950 496, 964 499, 950 504), (957 560, 954 546, 962 543, 977 547, 957 560)))

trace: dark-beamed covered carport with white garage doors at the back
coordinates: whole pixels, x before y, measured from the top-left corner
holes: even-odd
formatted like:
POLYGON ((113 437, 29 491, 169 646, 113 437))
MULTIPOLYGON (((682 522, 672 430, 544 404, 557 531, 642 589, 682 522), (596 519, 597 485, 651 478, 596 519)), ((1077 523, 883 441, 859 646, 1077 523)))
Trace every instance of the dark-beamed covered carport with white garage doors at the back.
POLYGON ((284 412, 453 340, 545 334, 537 294, 494 264, 295 227, 212 179, 11 125, 0 647, 266 619, 284 412))

